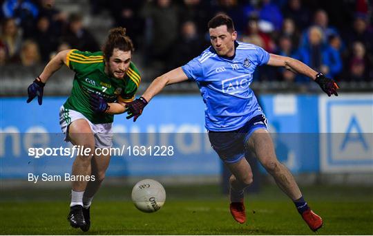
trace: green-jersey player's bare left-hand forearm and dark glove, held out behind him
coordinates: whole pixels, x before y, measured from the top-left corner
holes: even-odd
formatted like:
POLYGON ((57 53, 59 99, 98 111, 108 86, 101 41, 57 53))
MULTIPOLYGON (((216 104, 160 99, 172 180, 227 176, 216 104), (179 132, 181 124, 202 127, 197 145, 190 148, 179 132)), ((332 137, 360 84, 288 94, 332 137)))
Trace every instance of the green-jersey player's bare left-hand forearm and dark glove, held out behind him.
POLYGON ((48 78, 52 76, 52 74, 55 73, 58 69, 60 69, 61 66, 64 65, 64 63, 66 63, 66 56, 68 52, 70 52, 70 50, 64 50, 53 57, 52 60, 50 60, 49 63, 46 65, 46 67, 44 67, 43 72, 41 72, 41 74, 37 76, 37 78, 35 78, 35 81, 32 82, 30 86, 28 86, 27 103, 30 103, 36 96, 39 105, 43 103, 44 85, 46 85, 46 81, 48 81, 48 78))

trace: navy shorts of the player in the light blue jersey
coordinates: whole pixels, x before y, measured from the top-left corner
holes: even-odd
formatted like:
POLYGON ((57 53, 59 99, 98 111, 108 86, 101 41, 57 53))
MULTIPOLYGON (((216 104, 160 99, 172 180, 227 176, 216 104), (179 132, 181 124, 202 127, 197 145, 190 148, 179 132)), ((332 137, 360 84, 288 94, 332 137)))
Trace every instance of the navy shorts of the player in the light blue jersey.
POLYGON ((211 147, 224 163, 236 163, 245 157, 245 144, 256 129, 268 129, 264 115, 254 116, 240 129, 224 132, 209 131, 211 147))

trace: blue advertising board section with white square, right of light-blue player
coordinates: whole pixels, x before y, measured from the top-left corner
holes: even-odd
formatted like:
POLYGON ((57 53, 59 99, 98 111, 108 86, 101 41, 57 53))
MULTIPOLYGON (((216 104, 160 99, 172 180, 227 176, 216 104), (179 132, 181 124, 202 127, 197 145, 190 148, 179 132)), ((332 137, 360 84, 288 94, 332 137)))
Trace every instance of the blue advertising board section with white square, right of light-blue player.
POLYGON ((292 173, 318 171, 318 97, 268 94, 260 98, 278 160, 292 173))

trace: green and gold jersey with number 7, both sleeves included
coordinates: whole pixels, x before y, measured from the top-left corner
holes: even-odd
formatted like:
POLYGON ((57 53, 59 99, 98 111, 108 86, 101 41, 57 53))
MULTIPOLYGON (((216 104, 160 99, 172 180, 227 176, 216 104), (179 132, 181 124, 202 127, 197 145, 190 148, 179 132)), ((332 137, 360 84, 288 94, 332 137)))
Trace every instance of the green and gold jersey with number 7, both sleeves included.
POLYGON ((113 122, 113 115, 95 113, 90 108, 90 93, 101 95, 108 103, 117 101, 118 96, 128 103, 135 98, 141 81, 140 73, 132 62, 123 79, 109 77, 105 73, 102 52, 70 50, 66 56, 66 65, 73 69, 75 77, 71 95, 64 107, 79 111, 93 124, 113 122))

